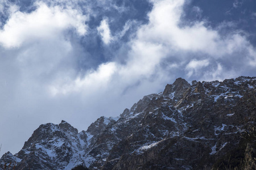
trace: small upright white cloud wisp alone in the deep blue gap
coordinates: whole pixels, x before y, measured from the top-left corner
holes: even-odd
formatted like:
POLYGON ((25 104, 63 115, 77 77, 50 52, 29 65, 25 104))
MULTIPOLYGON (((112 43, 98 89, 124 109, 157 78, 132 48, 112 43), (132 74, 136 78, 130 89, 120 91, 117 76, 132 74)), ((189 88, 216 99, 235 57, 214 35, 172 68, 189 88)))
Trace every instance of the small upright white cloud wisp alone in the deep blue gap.
POLYGON ((109 29, 108 19, 103 19, 99 27, 97 27, 98 33, 101 35, 101 39, 105 44, 109 44, 112 41, 112 35, 109 29))

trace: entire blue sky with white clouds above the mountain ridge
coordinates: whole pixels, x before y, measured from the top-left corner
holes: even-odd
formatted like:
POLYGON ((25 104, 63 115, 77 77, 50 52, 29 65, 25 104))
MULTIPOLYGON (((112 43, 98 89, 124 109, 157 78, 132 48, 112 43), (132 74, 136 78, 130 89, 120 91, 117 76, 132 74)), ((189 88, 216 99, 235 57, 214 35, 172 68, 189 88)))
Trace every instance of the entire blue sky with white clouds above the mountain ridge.
POLYGON ((0 155, 40 124, 86 130, 179 77, 255 76, 255 26, 252 0, 2 0, 0 155))

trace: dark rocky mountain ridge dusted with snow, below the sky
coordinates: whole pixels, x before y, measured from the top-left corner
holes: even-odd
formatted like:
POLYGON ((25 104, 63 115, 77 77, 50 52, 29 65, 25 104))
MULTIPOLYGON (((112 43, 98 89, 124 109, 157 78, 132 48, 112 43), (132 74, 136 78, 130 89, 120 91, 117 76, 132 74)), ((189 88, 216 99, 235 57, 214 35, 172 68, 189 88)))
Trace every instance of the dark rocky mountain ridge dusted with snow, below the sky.
POLYGON ((1 169, 255 169, 256 77, 188 83, 144 96, 80 133, 44 124, 1 169))

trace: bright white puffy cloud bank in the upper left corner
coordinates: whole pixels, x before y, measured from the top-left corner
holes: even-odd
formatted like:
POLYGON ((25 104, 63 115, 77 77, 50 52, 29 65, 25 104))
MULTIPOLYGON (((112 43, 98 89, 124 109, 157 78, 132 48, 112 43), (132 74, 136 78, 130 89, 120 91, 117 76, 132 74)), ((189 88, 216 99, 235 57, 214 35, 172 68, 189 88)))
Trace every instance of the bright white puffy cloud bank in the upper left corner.
POLYGON ((55 39, 63 31, 75 28, 79 35, 86 33, 86 16, 71 8, 48 7, 43 2, 36 3, 37 9, 31 13, 13 11, 9 20, 0 30, 0 44, 14 48, 24 42, 40 39, 55 39))

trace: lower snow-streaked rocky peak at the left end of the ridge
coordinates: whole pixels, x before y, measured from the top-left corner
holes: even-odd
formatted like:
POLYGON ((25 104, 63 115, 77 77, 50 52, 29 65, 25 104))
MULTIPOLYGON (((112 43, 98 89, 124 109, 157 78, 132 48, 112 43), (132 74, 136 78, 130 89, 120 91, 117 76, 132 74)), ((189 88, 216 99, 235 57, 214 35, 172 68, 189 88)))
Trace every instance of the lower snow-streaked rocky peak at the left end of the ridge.
MULTIPOLYGON (((15 169, 72 169, 84 166, 82 150, 87 145, 85 131, 77 132, 65 121, 59 125, 43 124, 24 143, 22 150, 12 158, 15 169), (16 162, 18 162, 16 164, 16 162)), ((3 158, 8 160, 7 158, 3 158)), ((1 161, 0 161, 1 165, 1 161)), ((0 166, 0 169, 2 167, 0 166)))

